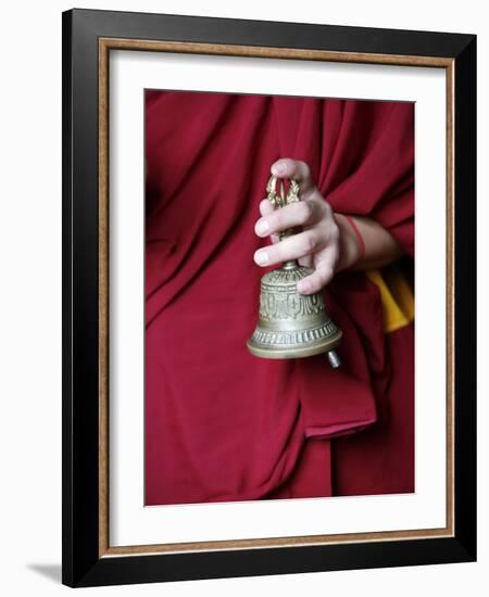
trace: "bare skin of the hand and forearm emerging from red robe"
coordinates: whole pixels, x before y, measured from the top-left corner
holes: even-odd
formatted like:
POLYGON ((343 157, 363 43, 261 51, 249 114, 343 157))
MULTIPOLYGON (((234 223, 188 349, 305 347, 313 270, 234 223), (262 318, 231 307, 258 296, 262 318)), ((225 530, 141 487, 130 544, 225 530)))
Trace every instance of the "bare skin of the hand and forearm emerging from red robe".
POLYGON ((401 245, 377 221, 351 216, 365 244, 365 254, 359 261, 361 247, 352 226, 319 193, 305 162, 280 158, 272 164, 271 173, 277 178, 294 178, 301 201, 279 209, 274 209, 267 199, 260 203, 262 217, 254 231, 262 238, 269 236, 273 244, 259 249, 254 262, 267 267, 298 259, 301 265, 314 268, 311 276, 298 283, 301 294, 319 292, 343 269, 381 267, 402 256, 401 245), (302 230, 278 241, 278 232, 294 227, 302 230))

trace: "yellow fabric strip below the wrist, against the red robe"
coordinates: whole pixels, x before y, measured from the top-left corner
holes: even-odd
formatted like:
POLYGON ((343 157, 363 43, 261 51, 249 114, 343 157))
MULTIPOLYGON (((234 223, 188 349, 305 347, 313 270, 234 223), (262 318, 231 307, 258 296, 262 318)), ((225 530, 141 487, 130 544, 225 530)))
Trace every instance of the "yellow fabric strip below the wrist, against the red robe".
POLYGON ((371 269, 365 272, 380 291, 384 310, 384 331, 393 332, 414 320, 414 294, 397 266, 371 269))

